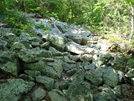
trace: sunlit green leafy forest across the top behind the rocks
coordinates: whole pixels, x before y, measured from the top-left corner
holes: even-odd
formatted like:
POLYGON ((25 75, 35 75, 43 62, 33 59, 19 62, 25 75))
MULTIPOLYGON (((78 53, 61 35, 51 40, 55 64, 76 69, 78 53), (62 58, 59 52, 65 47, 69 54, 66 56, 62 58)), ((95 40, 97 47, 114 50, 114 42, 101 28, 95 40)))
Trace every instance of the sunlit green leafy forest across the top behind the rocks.
POLYGON ((86 25, 100 35, 118 34, 133 41, 133 0, 2 0, 0 12, 1 18, 21 30, 30 26, 19 14, 36 13, 44 18, 86 25))

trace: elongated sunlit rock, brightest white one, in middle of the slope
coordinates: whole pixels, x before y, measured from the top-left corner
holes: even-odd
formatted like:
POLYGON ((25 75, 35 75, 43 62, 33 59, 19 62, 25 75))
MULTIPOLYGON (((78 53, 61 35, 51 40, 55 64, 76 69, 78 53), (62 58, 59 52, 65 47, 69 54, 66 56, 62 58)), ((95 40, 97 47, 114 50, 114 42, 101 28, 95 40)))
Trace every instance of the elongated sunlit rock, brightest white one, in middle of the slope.
POLYGON ((92 48, 86 47, 86 46, 81 46, 75 42, 68 42, 66 44, 66 50, 75 54, 94 54, 94 50, 92 48))

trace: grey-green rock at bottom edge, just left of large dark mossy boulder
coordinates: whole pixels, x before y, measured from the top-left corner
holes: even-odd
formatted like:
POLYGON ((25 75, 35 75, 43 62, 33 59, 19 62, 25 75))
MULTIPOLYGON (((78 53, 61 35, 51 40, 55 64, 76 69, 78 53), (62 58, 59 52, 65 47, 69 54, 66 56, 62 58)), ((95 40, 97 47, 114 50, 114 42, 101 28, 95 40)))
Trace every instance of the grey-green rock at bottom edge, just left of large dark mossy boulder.
POLYGON ((57 89, 53 89, 52 91, 48 92, 48 95, 51 101, 68 101, 64 94, 57 89))

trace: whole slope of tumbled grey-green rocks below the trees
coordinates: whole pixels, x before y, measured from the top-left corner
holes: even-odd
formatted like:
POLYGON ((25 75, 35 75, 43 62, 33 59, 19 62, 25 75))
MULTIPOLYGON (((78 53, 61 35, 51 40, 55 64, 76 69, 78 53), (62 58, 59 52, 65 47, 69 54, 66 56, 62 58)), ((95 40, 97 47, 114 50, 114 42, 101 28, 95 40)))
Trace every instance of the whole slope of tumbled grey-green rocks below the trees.
POLYGON ((127 101, 127 94, 134 100, 134 92, 127 92, 134 69, 115 70, 117 57, 97 43, 98 36, 54 18, 27 17, 36 36, 16 36, 1 22, 1 101, 127 101))

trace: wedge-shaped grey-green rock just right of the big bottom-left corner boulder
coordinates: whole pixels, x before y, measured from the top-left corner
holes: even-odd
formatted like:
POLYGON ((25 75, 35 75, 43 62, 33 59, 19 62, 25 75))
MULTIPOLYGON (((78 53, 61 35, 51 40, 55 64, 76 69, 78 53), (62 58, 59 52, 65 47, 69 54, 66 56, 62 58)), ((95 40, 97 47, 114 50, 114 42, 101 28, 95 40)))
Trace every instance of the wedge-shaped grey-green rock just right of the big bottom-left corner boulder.
POLYGON ((47 76, 36 76, 36 81, 45 85, 47 90, 52 90, 54 88, 54 79, 47 76))

